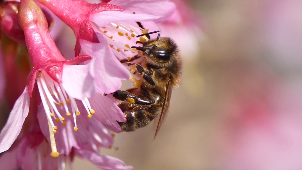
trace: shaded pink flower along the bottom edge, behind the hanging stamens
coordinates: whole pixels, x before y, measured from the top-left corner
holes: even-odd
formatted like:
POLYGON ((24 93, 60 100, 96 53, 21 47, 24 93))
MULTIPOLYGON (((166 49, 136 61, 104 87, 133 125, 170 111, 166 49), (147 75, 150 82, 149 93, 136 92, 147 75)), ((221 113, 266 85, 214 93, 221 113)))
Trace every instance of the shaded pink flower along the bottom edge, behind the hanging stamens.
MULTIPOLYGON (((93 120, 93 119, 92 119, 93 120)), ((71 163, 75 156, 81 159, 89 160, 98 168, 102 169, 132 169, 119 159, 99 154, 98 146, 109 146, 112 144, 112 136, 110 132, 104 130, 101 124, 94 122, 91 127, 101 128, 98 132, 92 132, 95 136, 90 138, 91 141, 84 149, 72 148, 69 155, 61 154, 57 158, 53 158, 49 153, 51 152, 50 144, 44 135, 39 131, 37 122, 30 132, 24 134, 18 142, 0 158, 0 164, 4 169, 44 169, 63 170, 66 167, 66 162, 71 163), (96 134, 98 133, 98 134, 96 134), (98 136, 101 134, 101 136, 98 136), (93 145, 92 145, 93 144, 93 145)), ((88 127, 89 128, 89 127, 88 127)), ((92 129, 93 129, 92 128, 92 129)))

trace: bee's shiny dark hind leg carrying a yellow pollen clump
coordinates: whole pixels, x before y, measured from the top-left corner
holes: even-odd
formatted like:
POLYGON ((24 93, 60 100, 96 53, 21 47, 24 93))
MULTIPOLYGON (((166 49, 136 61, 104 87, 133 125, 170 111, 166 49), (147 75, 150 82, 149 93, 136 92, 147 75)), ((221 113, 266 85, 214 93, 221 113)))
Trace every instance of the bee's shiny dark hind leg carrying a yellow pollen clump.
POLYGON ((151 105, 155 103, 153 97, 144 89, 140 89, 141 93, 140 96, 132 95, 131 93, 125 90, 117 90, 113 93, 113 96, 121 101, 127 102, 128 104, 133 105, 151 105))

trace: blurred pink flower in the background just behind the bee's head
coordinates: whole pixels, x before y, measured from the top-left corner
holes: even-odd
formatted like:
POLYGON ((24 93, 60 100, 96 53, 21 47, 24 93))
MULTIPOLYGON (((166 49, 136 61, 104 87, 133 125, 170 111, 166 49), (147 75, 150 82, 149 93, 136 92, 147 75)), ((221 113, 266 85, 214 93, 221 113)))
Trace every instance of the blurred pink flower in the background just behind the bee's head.
POLYGON ((164 22, 159 24, 162 36, 172 37, 180 48, 180 54, 187 61, 199 57, 200 43, 205 39, 202 29, 205 20, 198 15, 186 1, 172 0, 176 10, 164 22))

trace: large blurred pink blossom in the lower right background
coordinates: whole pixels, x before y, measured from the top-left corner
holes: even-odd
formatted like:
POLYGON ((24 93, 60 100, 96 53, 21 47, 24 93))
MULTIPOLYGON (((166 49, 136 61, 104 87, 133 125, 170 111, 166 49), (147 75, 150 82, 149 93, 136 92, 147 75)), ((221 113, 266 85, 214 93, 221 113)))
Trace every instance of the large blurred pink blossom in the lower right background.
POLYGON ((221 168, 301 169, 302 81, 282 80, 263 66, 238 67, 222 96, 221 168))

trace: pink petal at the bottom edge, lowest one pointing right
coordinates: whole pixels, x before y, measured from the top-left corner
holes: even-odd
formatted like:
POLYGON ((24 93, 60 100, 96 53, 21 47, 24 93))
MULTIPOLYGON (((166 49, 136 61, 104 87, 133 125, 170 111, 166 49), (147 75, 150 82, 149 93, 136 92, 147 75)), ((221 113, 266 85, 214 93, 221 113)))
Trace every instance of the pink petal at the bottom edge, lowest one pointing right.
POLYGON ((112 169, 112 170, 113 169, 114 170, 118 170, 118 169, 130 170, 133 168, 131 166, 126 166, 124 162, 122 162, 121 160, 119 160, 117 158, 100 155, 97 152, 76 149, 75 153, 79 157, 82 157, 82 159, 92 162, 98 168, 112 169))

